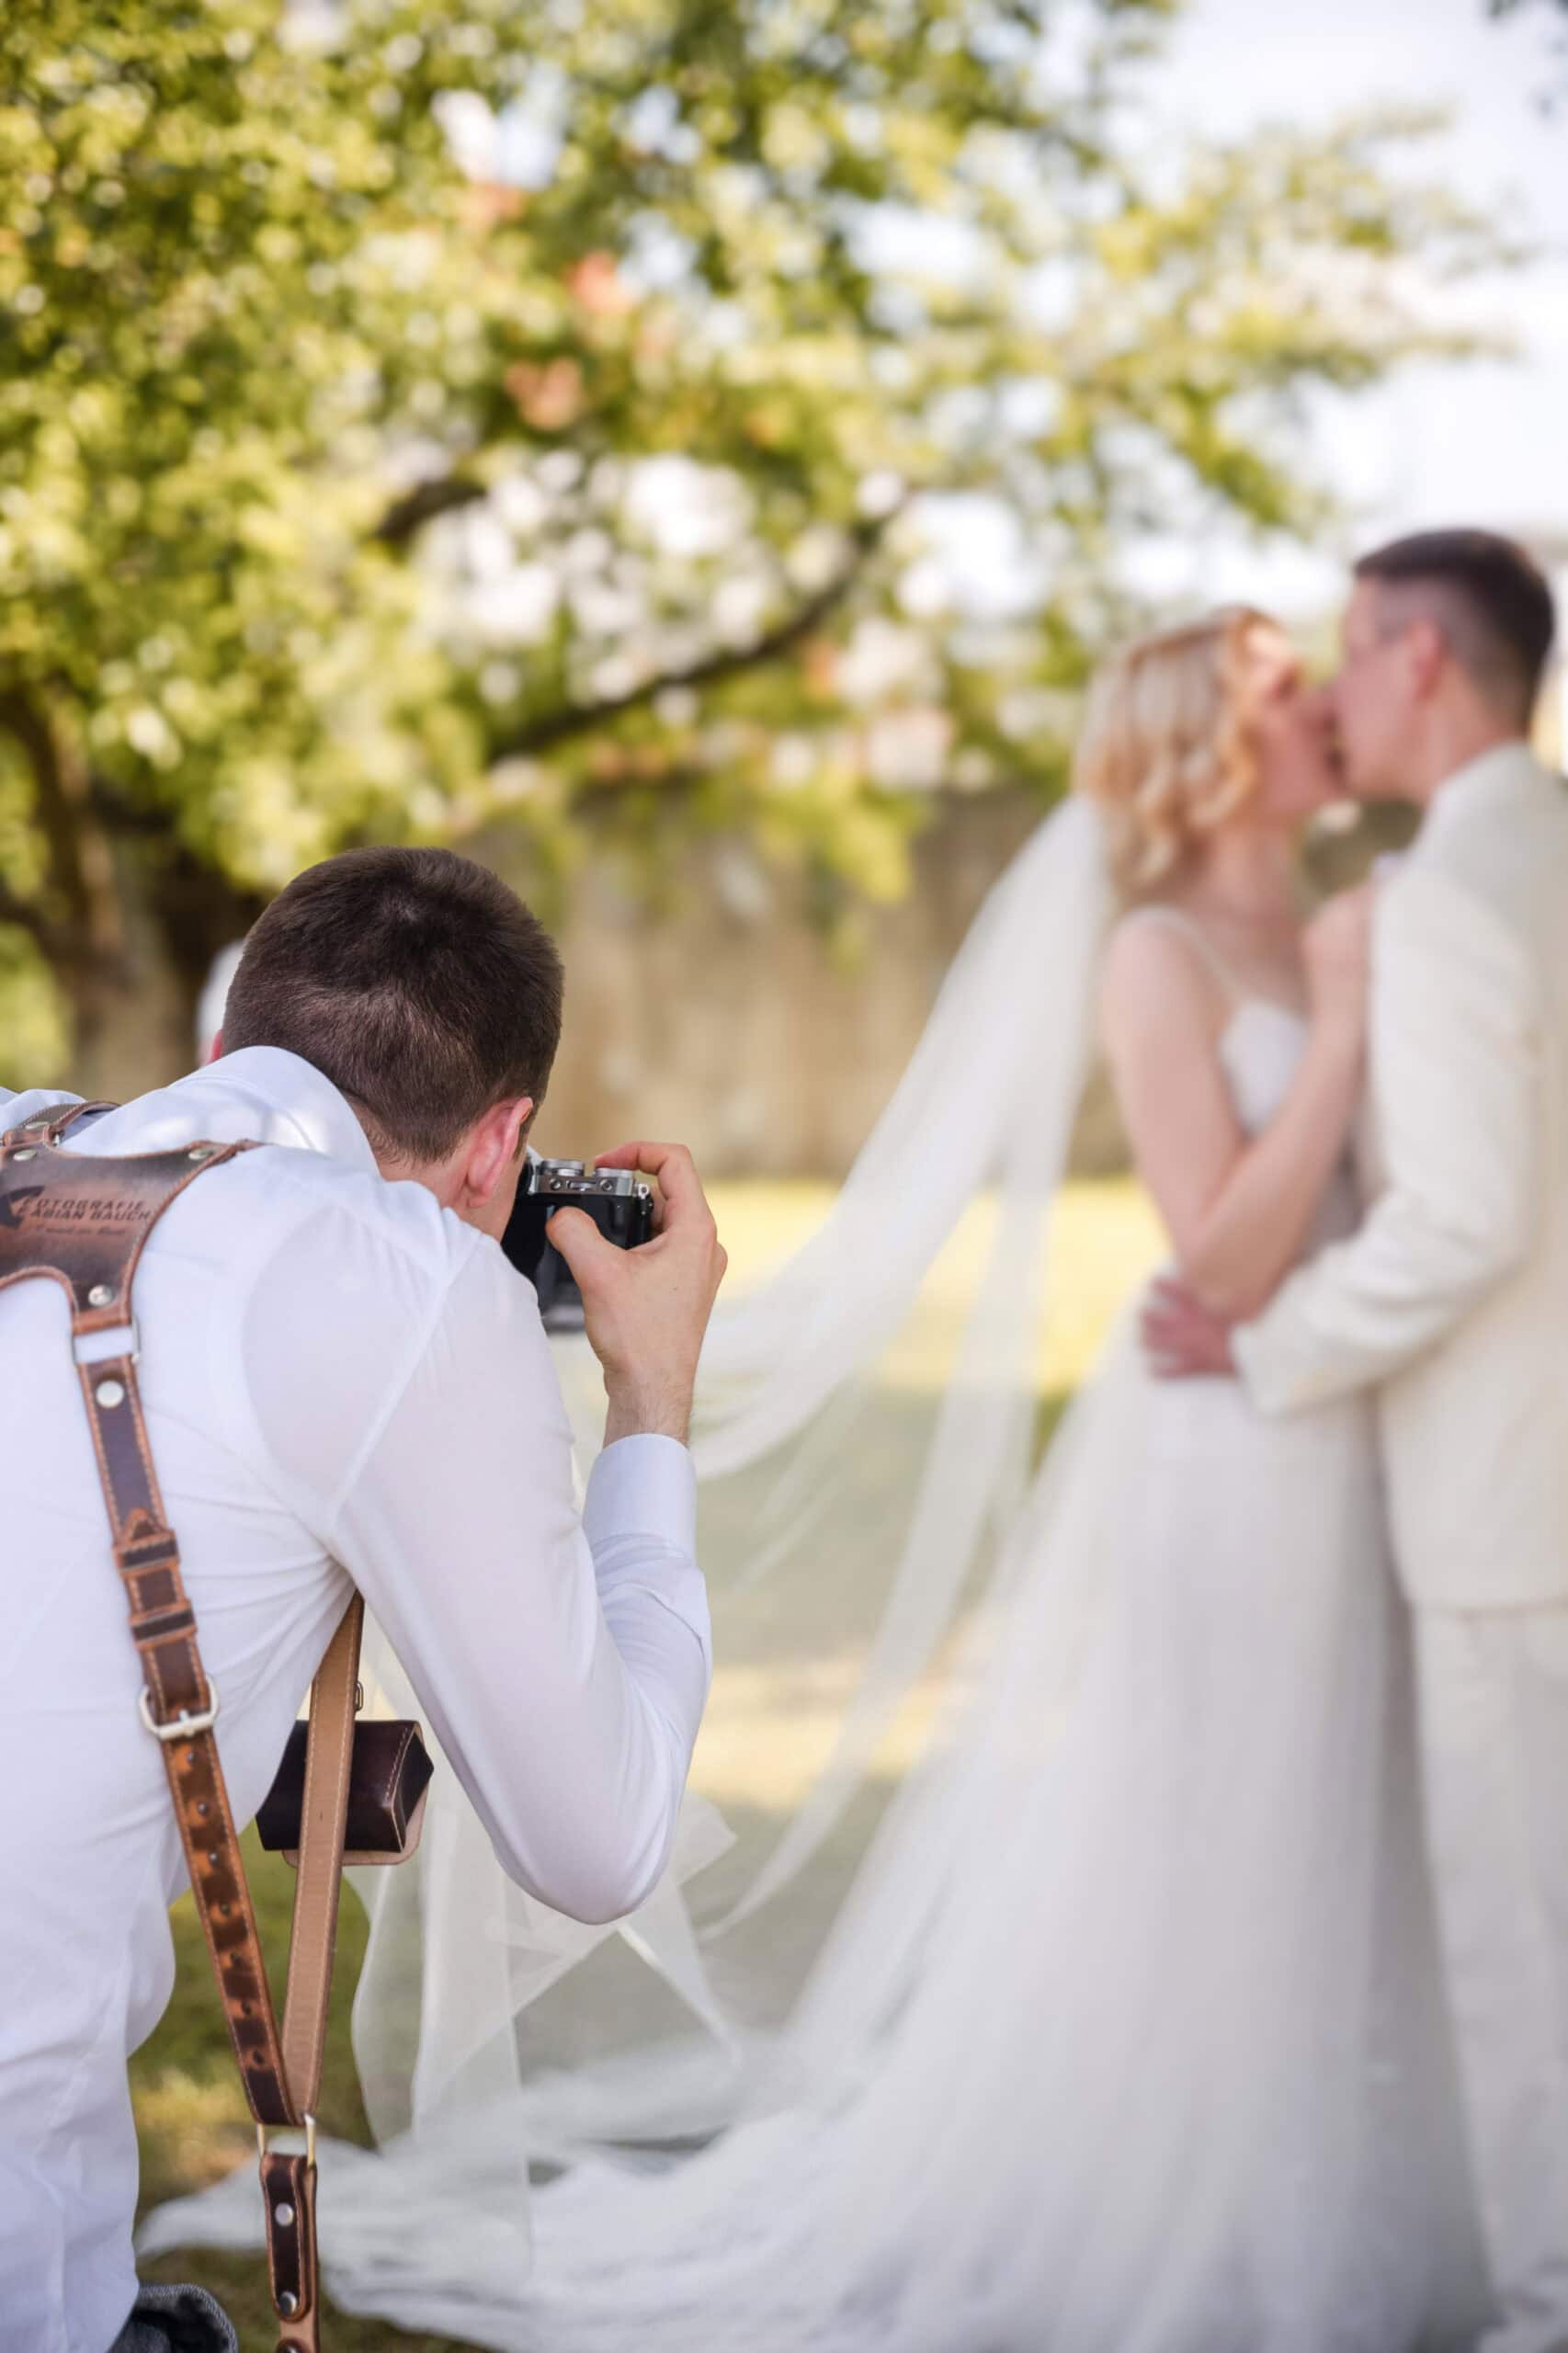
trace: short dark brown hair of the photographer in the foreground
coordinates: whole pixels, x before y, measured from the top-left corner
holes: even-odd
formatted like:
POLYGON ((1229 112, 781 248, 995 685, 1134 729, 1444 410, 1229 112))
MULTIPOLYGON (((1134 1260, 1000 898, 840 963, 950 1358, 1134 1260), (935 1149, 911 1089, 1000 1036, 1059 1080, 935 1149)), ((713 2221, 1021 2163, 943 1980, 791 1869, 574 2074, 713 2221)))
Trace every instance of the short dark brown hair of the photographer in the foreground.
POLYGON ((445 1160, 494 1104, 544 1094, 560 1042, 556 941, 452 849, 344 849, 283 889, 245 941, 224 1052, 304 1056, 377 1151, 445 1160))

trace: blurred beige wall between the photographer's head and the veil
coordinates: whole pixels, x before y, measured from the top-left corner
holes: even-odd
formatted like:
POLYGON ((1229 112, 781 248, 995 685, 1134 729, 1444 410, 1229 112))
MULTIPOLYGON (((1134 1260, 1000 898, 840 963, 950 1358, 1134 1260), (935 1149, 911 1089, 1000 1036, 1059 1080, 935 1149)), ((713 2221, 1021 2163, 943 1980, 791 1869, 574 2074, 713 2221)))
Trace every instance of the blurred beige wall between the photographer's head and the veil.
MULTIPOLYGON (((560 927, 567 1021, 539 1146, 565 1155, 678 1136, 713 1176, 841 1176, 975 908, 1038 821, 1022 791, 946 800, 913 845, 909 896, 859 911, 848 958, 829 953, 796 892, 744 842, 695 842, 657 906, 607 859, 591 861, 560 927)), ((485 852, 506 871, 504 842, 485 852)), ((1052 986, 1048 939, 1038 986, 1052 986)), ((1012 1012, 996 1005, 994 1016, 1012 1012)), ((1114 1122, 1097 1106, 1078 1165, 1116 1158, 1114 1122)), ((909 1176, 918 1184, 921 1172, 909 1176)))

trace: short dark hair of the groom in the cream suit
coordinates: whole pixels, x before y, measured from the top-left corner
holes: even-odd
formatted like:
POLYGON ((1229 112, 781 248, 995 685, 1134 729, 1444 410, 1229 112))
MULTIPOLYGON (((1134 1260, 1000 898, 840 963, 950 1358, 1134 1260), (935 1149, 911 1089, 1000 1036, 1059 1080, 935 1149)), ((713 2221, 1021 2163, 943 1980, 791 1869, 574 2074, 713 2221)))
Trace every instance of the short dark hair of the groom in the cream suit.
POLYGON ((1356 579, 1396 591, 1410 619, 1436 621, 1486 701, 1528 727, 1556 616, 1521 546, 1497 532, 1413 532, 1363 555, 1356 579))

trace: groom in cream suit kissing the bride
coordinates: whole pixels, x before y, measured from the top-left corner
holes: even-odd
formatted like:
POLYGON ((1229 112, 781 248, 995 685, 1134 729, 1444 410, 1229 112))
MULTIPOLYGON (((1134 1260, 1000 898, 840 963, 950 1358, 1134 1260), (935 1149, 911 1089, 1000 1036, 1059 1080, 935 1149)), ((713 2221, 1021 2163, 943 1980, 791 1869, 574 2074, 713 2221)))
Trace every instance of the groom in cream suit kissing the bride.
POLYGON ((1377 1388, 1483 2353, 1568 2348, 1568 791, 1528 748, 1549 645, 1544 579, 1488 532, 1356 567, 1347 779, 1424 809, 1377 896, 1375 1198, 1255 1322, 1180 1285, 1144 1320, 1156 1369, 1234 1369, 1269 1414, 1377 1388))

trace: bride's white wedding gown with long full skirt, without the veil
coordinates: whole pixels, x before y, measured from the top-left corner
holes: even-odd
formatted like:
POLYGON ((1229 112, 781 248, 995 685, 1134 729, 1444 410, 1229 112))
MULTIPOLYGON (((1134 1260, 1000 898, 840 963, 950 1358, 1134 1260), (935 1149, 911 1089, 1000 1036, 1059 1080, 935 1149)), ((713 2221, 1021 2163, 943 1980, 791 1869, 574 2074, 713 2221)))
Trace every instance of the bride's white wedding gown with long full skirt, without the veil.
MULTIPOLYGON (((1302 1040, 1236 1007, 1248 1127, 1302 1040)), ((1318 1238, 1354 1214, 1347 1174, 1318 1238)), ((1262 1421, 1236 1384, 1151 1381, 1123 1332, 977 1657, 746 2120, 662 2172, 549 2184, 532 2264, 499 2146, 445 2153, 473 2202, 438 2245, 410 2172, 334 2252, 327 2179, 334 2294, 518 2353, 1462 2344, 1479 2275, 1370 1409, 1262 1421), (1052 1560, 1099 1555, 1071 1678, 1045 1520, 1052 1560)))

